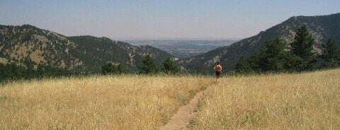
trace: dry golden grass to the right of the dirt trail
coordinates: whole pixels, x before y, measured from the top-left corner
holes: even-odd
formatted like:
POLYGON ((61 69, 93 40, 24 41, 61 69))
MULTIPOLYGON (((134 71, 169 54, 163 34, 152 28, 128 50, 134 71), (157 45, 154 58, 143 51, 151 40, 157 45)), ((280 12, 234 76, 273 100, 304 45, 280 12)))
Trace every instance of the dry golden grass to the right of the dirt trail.
POLYGON ((222 78, 191 129, 340 129, 340 69, 222 78))

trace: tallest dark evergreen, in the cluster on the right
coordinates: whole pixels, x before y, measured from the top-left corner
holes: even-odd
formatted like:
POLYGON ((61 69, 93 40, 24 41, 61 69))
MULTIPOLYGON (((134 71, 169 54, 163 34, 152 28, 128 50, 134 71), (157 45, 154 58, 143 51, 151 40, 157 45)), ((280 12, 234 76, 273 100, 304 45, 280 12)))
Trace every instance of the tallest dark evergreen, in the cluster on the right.
POLYGON ((295 32, 294 41, 291 44, 291 51, 295 54, 298 60, 295 66, 298 66, 298 71, 305 71, 312 69, 312 62, 314 61, 313 46, 315 45, 314 38, 308 32, 307 26, 302 25, 295 32))

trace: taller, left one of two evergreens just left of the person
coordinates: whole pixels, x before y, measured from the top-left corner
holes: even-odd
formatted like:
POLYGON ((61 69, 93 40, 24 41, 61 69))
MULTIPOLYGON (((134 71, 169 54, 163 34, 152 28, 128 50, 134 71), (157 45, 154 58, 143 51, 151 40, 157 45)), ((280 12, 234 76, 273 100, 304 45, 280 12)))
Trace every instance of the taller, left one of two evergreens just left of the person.
POLYGON ((158 72, 157 66, 154 64, 154 59, 152 59, 151 55, 149 54, 144 57, 142 66, 138 67, 138 69, 142 74, 153 74, 158 72))

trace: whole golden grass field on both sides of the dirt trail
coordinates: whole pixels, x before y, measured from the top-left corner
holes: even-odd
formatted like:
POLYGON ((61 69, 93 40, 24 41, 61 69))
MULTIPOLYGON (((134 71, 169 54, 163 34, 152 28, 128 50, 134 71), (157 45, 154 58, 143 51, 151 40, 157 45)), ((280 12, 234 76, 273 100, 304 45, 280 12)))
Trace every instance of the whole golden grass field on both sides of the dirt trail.
POLYGON ((0 86, 0 129, 159 129, 205 88, 188 129, 340 129, 340 69, 16 81, 0 86))

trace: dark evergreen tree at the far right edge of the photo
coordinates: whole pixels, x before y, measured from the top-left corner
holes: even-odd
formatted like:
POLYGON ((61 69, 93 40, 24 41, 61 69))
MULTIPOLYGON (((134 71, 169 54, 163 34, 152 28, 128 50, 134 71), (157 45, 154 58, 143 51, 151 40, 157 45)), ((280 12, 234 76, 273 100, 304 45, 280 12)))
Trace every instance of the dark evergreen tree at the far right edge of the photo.
POLYGON ((326 43, 322 45, 322 58, 324 59, 324 67, 336 67, 339 66, 340 50, 336 46, 334 40, 328 39, 326 43))

